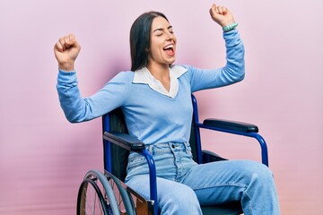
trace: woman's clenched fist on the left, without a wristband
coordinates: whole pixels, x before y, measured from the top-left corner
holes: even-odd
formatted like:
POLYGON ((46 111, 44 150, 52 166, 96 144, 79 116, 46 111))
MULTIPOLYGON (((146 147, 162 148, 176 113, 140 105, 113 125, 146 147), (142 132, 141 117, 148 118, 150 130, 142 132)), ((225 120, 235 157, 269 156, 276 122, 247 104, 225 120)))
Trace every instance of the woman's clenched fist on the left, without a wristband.
POLYGON ((54 46, 58 68, 66 72, 74 71, 74 61, 80 50, 81 46, 73 34, 68 34, 58 39, 58 42, 54 46))

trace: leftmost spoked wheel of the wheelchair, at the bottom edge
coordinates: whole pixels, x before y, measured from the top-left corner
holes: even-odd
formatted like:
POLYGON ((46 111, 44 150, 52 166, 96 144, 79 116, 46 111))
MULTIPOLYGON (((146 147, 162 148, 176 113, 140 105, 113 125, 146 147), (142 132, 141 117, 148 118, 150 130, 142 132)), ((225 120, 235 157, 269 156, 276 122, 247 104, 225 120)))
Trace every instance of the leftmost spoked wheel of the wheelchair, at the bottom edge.
POLYGON ((77 214, 120 215, 112 187, 98 170, 90 170, 83 179, 77 197, 77 214))

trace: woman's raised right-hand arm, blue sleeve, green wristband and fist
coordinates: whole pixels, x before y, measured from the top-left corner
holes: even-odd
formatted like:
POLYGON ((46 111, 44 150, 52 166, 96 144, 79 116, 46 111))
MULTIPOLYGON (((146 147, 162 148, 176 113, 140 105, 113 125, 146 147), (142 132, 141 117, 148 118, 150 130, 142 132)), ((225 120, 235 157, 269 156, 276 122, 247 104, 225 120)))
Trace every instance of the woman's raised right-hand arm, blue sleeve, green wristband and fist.
POLYGON ((223 68, 198 69, 190 66, 191 90, 205 90, 223 87, 244 78, 244 46, 240 39, 232 13, 224 6, 213 4, 210 14, 214 22, 223 27, 227 63, 223 68))

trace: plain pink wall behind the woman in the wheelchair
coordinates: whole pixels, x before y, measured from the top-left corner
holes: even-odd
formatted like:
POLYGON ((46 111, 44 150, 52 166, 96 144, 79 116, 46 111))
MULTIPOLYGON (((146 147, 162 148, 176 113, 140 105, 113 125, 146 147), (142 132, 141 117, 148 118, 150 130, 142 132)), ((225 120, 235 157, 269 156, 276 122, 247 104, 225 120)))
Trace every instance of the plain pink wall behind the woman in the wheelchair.
MULTIPOLYGON (((145 11, 165 13, 177 34, 178 64, 222 66, 213 1, 0 2, 0 214, 74 214, 78 186, 102 170, 100 119, 71 125, 59 107, 53 46, 73 32, 82 44, 80 88, 89 96, 127 70, 128 32, 145 11)), ((323 211, 323 3, 221 1, 246 47, 246 79, 196 93, 200 117, 247 121, 266 138, 282 214, 323 211)), ((258 143, 204 132, 206 149, 258 159, 258 143)))

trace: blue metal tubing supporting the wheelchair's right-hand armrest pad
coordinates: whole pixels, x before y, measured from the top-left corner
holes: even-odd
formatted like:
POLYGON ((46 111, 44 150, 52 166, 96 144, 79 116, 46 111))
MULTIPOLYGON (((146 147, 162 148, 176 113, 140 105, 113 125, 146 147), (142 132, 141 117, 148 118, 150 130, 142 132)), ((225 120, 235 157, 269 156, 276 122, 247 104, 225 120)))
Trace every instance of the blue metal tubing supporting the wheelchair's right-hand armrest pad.
POLYGON ((266 142, 265 139, 258 133, 243 133, 243 132, 238 132, 238 131, 232 131, 229 129, 223 129, 223 128, 217 128, 214 126, 208 126, 208 125, 203 125, 199 123, 198 120, 198 109, 197 109, 197 101, 195 96, 192 94, 192 102, 193 102, 193 120, 194 120, 194 125, 195 125, 195 131, 196 131, 196 159, 198 163, 202 163, 202 150, 201 150, 201 138, 200 138, 200 131, 199 128, 206 128, 218 132, 223 132, 223 133, 233 133, 237 135, 243 135, 243 136, 248 136, 252 137, 258 140, 261 148, 261 160, 262 163, 265 164, 268 167, 268 150, 266 147, 266 142))

